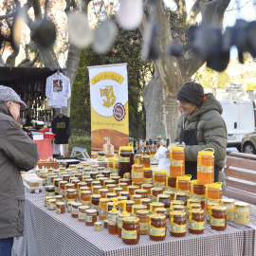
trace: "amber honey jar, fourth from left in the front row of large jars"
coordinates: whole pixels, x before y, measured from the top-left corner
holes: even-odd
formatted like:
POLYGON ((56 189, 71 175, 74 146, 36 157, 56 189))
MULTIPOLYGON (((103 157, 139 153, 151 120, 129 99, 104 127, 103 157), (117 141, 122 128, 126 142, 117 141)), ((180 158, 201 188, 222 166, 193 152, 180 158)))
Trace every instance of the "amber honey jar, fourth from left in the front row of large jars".
POLYGON ((189 210, 188 228, 192 234, 202 234, 205 230, 204 210, 189 210))

